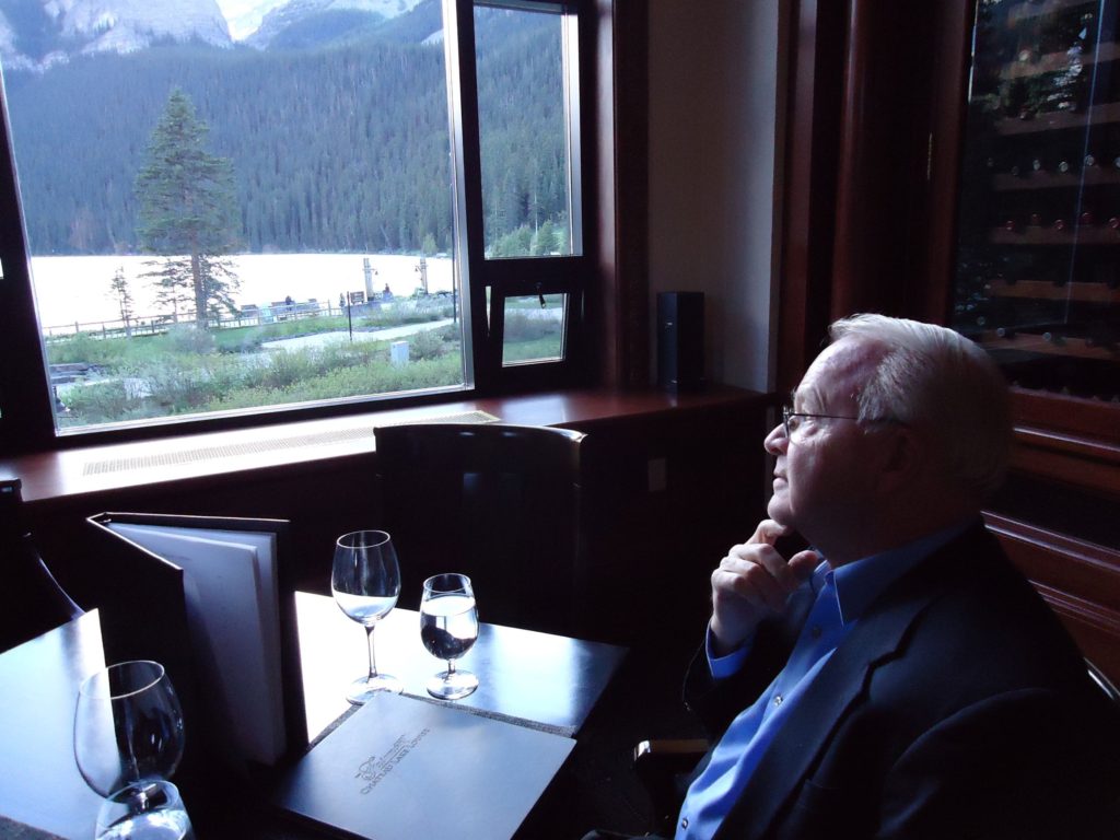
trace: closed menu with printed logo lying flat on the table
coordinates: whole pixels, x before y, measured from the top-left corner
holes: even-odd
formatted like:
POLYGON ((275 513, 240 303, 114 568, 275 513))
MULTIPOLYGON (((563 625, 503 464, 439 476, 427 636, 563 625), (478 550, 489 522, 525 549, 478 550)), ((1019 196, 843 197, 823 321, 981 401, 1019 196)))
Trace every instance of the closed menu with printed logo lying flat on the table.
POLYGON ((281 781, 280 808, 371 840, 512 838, 575 747, 571 738, 385 694, 281 781))

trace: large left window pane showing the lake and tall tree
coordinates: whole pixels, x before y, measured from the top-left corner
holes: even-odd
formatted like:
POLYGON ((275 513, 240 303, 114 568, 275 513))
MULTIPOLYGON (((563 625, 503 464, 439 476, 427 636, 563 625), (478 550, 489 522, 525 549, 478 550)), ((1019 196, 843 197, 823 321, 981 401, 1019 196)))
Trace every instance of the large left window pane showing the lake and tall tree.
POLYGON ((220 4, 6 21, 59 429, 469 381, 440 4, 220 4))

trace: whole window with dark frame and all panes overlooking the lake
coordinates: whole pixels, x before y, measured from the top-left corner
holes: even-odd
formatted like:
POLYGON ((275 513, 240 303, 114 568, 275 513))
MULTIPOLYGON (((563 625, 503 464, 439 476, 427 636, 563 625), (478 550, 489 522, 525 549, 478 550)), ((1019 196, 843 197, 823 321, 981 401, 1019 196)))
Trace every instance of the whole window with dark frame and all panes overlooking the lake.
POLYGON ((6 436, 569 381, 579 6, 218 6, 7 21, 6 436))

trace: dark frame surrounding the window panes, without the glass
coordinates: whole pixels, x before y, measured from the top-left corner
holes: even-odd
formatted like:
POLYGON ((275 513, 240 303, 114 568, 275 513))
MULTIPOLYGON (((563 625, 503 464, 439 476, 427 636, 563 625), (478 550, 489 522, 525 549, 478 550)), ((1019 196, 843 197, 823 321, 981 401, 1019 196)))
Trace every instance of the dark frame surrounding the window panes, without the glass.
MULTIPOLYGON (((599 0, 601 6, 601 0, 599 0)), ((0 454, 67 449, 127 442, 183 433, 293 422, 325 417, 547 390, 586 383, 591 377, 586 299, 595 286, 598 236, 590 222, 599 218, 592 175, 598 168, 595 138, 596 49, 595 0, 444 0, 447 40, 448 108, 454 172, 456 282, 463 296, 464 386, 408 395, 372 394, 316 405, 261 407, 223 416, 153 419, 143 426, 59 433, 55 429, 47 360, 36 317, 30 254, 24 224, 8 119, 7 94, 0 85, 0 454), (566 64, 572 151, 569 194, 579 207, 571 215, 575 256, 487 260, 483 245, 480 144, 475 74, 474 9, 497 7, 529 11, 558 10, 564 17, 566 40, 573 49, 566 64), (560 361, 502 364, 505 300, 526 295, 563 293, 564 357, 560 361), (489 318, 487 318, 487 297, 489 318)), ((609 60, 609 56, 605 57, 609 60)), ((600 56, 599 60, 604 57, 600 56)))

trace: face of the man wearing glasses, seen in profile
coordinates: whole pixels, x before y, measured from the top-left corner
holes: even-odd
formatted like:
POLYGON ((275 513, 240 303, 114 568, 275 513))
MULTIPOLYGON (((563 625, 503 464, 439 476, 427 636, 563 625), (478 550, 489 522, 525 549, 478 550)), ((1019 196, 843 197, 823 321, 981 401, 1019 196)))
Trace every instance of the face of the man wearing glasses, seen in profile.
MULTIPOLYGON (((866 340, 843 338, 830 345, 806 371, 794 392, 793 411, 853 418, 856 395, 881 351, 866 340)), ((776 458, 769 517, 841 560, 838 547, 859 544, 858 529, 874 513, 876 436, 853 420, 799 418, 785 437, 780 423, 765 441, 776 458), (850 539, 849 539, 850 538, 850 539)))

